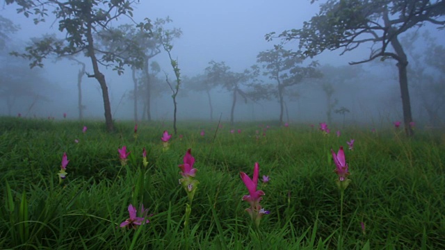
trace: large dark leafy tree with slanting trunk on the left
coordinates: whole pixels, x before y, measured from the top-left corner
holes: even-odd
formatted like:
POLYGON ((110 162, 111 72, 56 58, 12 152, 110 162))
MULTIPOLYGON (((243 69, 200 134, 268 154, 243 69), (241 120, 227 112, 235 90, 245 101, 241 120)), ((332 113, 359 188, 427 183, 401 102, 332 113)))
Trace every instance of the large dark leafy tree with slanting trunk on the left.
POLYGON ((7 4, 17 3, 19 6, 17 12, 22 12, 26 17, 34 15, 35 24, 44 21, 51 9, 58 20, 59 31, 65 33, 64 40, 56 39, 54 36, 45 36, 40 40, 33 40, 33 44, 26 47, 26 53, 14 53, 16 56, 23 56, 31 60, 31 67, 43 67, 42 60, 51 54, 72 56, 84 52, 90 58, 93 72, 88 74, 88 77, 95 78, 102 89, 105 123, 108 131, 113 131, 114 125, 108 87, 105 76, 99 69, 99 64, 109 66, 110 63, 115 63, 115 69, 120 73, 127 61, 106 51, 100 51, 103 56, 98 58, 93 35, 106 29, 113 20, 122 15, 131 17, 133 15, 131 5, 135 2, 136 0, 6 0, 7 4))

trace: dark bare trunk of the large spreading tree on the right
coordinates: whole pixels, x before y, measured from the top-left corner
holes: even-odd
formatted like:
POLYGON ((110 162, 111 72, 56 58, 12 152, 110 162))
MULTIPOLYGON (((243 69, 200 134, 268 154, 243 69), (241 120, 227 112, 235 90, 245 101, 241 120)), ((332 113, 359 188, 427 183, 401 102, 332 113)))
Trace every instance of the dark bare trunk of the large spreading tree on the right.
POLYGON ((403 47, 396 36, 394 36, 394 38, 391 40, 391 46, 394 48, 394 51, 396 51, 396 54, 398 56, 398 81, 401 87, 403 124, 405 126, 405 133, 407 136, 412 136, 414 135, 414 131, 412 131, 412 128, 410 126, 410 122, 412 122, 412 114, 407 77, 408 60, 405 51, 403 51, 403 47))

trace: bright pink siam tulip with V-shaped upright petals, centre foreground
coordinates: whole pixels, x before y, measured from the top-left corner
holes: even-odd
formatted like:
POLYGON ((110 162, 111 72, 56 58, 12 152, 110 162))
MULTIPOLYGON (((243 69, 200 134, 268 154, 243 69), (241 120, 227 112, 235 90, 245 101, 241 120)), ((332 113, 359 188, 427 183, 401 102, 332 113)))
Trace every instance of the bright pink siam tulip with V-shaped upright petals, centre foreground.
POLYGON ((250 204, 250 208, 246 208, 245 210, 248 211, 250 218, 258 228, 261 217, 269 214, 269 211, 264 210, 264 208, 261 208, 261 205, 259 205, 259 201, 263 199, 261 196, 264 195, 264 192, 263 190, 257 190, 259 176, 258 163, 255 163, 252 179, 244 172, 240 172, 240 176, 245 187, 249 190, 249 194, 243 196, 243 201, 248 201, 250 204))

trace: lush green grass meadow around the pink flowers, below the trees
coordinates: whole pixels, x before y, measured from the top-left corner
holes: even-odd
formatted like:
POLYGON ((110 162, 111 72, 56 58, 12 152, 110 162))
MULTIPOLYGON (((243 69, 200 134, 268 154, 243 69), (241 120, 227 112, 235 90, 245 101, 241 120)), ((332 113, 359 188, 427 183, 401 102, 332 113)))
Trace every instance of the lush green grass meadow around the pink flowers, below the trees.
POLYGON ((166 149, 170 122, 142 122, 137 136, 133 122, 115 125, 106 133, 103 122, 0 118, 0 249, 445 249, 443 131, 179 122, 166 149), (343 208, 330 151, 340 146, 351 173, 343 208), (200 184, 185 226, 178 165, 189 148, 200 184), (259 228, 240 178, 252 178, 255 163, 269 211, 259 228), (129 204, 138 216, 148 208, 149 223, 120 227, 129 204))

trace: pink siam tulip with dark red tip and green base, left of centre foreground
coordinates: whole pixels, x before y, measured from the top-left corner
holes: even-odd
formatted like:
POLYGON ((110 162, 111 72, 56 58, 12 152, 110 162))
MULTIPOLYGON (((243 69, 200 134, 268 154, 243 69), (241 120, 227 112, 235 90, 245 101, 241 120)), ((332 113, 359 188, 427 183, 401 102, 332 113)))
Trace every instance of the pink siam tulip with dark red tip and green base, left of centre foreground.
POLYGON ((183 164, 178 165, 182 171, 180 172, 182 178, 179 179, 179 184, 181 184, 184 190, 186 190, 188 200, 191 203, 193 201, 193 196, 195 195, 197 185, 200 183, 199 181, 195 180, 197 169, 193 168, 195 158, 192 156, 191 149, 187 150, 183 162, 183 164))

